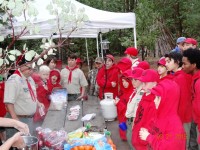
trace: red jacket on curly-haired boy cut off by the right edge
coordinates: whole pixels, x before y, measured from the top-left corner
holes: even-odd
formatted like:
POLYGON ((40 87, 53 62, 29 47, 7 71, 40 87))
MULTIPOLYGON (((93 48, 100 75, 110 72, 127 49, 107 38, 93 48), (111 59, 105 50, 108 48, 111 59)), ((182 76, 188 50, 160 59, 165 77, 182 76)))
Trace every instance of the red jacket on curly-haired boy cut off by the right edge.
POLYGON ((200 71, 192 77, 192 117, 200 131, 200 71))

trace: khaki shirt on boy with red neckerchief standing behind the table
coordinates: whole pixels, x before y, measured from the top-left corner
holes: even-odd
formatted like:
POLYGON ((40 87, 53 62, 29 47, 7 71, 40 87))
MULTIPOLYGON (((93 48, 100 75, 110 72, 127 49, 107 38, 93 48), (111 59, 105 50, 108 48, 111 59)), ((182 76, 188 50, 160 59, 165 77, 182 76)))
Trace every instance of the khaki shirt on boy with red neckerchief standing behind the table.
POLYGON ((79 68, 72 71, 72 80, 71 83, 68 83, 70 71, 66 68, 61 70, 61 85, 67 89, 68 94, 79 94, 80 87, 85 87, 88 85, 87 80, 83 71, 79 68))

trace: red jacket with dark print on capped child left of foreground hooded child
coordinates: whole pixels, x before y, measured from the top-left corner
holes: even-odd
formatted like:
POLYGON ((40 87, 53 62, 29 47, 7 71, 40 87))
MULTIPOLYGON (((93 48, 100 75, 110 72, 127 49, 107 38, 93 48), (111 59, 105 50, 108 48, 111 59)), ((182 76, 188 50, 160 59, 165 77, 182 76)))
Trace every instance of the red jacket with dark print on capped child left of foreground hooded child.
POLYGON ((155 95, 149 94, 146 96, 144 94, 139 102, 132 130, 132 144, 137 150, 147 149, 147 142, 140 139, 139 131, 141 127, 147 127, 149 120, 155 113, 154 99, 155 95))

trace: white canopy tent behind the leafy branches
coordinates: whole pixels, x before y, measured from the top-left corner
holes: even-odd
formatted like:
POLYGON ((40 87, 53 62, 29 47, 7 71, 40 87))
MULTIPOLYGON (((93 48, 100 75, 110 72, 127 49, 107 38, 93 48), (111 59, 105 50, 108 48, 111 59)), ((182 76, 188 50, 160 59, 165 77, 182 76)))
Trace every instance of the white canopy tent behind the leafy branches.
MULTIPOLYGON (((66 0, 63 0, 66 1, 66 0)), ((31 31, 21 36, 21 39, 36 39, 43 37, 58 38, 58 35, 53 35, 52 31, 57 27, 56 16, 51 15, 46 9, 47 5, 50 4, 52 0, 34 0, 33 4, 37 8, 39 14, 37 15, 37 20, 35 18, 27 17, 31 22, 40 28, 38 34, 33 34, 31 31), (51 21, 51 22, 50 22, 51 21)), ((103 10, 98 10, 90 6, 84 5, 78 1, 70 0, 70 5, 75 6, 76 10, 84 9, 85 14, 88 16, 88 20, 84 22, 83 26, 72 31, 73 24, 66 23, 65 27, 62 29, 62 37, 70 38, 96 38, 98 46, 98 35, 99 33, 106 33, 117 29, 133 28, 134 46, 137 47, 136 43, 136 18, 135 13, 117 13, 108 12, 103 10)), ((17 17, 14 22, 15 35, 21 33, 23 29, 24 17, 17 17)), ((12 30, 1 29, 2 35, 12 35, 12 30)), ((102 42, 102 39, 100 39, 102 42)))

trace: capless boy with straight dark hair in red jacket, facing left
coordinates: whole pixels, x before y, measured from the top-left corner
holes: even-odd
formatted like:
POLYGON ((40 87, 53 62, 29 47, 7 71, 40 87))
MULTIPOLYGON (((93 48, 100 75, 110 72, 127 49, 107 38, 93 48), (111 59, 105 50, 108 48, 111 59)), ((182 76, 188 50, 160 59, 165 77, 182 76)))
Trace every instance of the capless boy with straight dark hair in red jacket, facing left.
POLYGON ((178 105, 178 115, 183 123, 187 135, 187 148, 189 147, 190 127, 192 122, 192 99, 191 80, 192 77, 182 70, 182 54, 171 52, 166 62, 167 69, 174 72, 173 80, 180 87, 180 98, 178 105))

